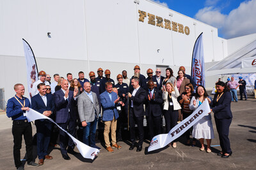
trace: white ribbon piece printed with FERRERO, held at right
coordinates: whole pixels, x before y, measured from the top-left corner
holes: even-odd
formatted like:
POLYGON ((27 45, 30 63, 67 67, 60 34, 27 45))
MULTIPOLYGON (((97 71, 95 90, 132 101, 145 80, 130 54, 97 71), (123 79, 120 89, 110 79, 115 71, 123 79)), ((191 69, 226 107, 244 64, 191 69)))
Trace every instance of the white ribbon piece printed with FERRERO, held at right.
POLYGON ((211 109, 209 103, 207 99, 205 99, 203 104, 201 104, 195 111, 193 111, 189 117, 175 125, 175 127, 173 127, 173 129, 171 129, 168 134, 159 134, 154 136, 148 147, 148 152, 163 148, 173 140, 179 138, 182 134, 184 134, 184 132, 188 131, 190 127, 196 124, 198 120, 200 120, 205 115, 208 115, 210 112, 211 109))

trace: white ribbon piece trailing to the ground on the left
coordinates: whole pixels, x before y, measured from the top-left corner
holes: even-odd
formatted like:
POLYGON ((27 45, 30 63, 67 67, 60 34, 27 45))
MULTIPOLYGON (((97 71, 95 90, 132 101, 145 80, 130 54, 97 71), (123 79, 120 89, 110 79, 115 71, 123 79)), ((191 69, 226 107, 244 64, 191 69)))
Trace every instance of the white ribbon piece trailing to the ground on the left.
MULTIPOLYGON (((45 115, 29 108, 29 111, 26 111, 26 113, 24 114, 24 116, 26 116, 28 118, 28 121, 34 121, 34 120, 38 120, 38 119, 48 119, 50 120, 52 123, 56 124, 51 118, 49 117, 45 117, 45 115)), ((71 134, 69 134, 67 131, 65 131, 64 129, 62 129, 58 124, 56 124, 62 131, 66 132, 68 134, 68 136, 74 141, 75 145, 77 146, 77 149, 79 150, 79 152, 81 153, 81 155, 84 158, 87 159, 94 159, 95 156, 100 152, 97 148, 92 148, 88 145, 85 145, 84 143, 82 143, 81 141, 77 140, 76 138, 74 138, 71 134)))

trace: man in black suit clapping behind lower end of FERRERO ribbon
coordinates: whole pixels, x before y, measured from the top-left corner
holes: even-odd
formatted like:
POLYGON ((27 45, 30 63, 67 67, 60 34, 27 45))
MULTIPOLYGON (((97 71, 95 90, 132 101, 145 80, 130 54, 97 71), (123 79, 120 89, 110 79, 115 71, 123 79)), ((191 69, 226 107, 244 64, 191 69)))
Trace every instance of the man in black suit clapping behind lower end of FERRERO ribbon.
POLYGON ((152 139, 157 134, 161 134, 163 99, 161 90, 154 87, 152 80, 148 81, 148 95, 146 96, 145 115, 148 120, 149 136, 152 139), (155 132, 154 132, 155 129, 155 132))

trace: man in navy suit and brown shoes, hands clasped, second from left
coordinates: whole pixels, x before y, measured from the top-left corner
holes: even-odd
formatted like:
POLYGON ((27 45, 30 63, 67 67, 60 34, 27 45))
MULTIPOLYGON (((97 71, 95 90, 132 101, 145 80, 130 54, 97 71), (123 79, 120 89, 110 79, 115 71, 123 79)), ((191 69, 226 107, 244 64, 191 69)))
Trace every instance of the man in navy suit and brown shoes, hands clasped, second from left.
MULTIPOLYGON (((46 95, 46 86, 44 83, 38 84, 37 89, 39 93, 31 99, 32 109, 42 113, 46 117, 50 117, 55 109, 53 97, 51 94, 46 95)), ((42 166, 44 164, 44 159, 52 159, 52 156, 48 155, 47 153, 51 138, 52 124, 47 119, 40 119, 35 121, 35 125, 37 138, 37 155, 39 159, 38 164, 42 166)))

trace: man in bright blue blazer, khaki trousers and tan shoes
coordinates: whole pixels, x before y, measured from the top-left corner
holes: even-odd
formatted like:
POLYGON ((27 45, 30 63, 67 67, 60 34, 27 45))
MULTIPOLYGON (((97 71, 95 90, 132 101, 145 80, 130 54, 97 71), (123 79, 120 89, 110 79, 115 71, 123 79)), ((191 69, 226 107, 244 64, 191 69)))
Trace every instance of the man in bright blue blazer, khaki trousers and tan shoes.
POLYGON ((110 81, 106 82, 106 91, 100 94, 100 103, 102 105, 104 121, 104 140, 106 143, 106 149, 108 152, 114 152, 109 142, 109 129, 111 128, 111 143, 113 148, 122 148, 116 144, 116 123, 119 117, 116 110, 116 105, 119 103, 119 97, 113 90, 113 85, 110 81))

